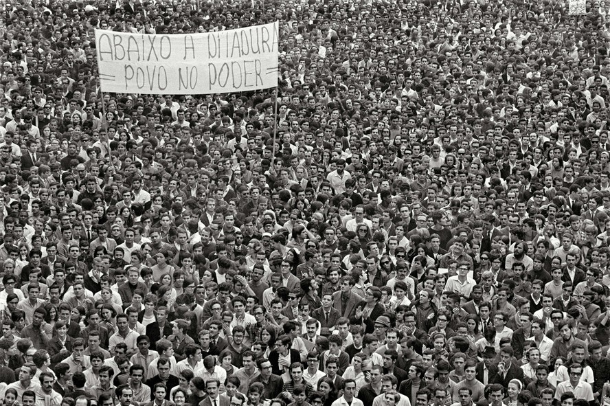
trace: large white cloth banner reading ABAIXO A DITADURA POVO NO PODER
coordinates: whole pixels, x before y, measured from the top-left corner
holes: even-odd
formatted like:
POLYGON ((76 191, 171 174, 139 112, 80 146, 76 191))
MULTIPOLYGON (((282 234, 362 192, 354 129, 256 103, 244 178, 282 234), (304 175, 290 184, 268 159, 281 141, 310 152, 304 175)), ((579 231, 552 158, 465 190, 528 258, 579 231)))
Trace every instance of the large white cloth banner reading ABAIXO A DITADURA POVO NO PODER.
POLYGON ((102 91, 209 94, 278 85, 278 23, 205 34, 95 30, 102 91))

